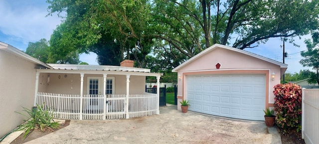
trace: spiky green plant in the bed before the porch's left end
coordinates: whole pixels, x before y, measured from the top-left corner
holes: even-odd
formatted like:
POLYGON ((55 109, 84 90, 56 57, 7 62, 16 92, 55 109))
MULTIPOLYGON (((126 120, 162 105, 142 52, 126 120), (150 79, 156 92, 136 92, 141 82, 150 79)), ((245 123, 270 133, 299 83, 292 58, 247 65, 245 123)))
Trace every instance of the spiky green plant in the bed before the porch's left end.
MULTIPOLYGON (((48 110, 43 110, 43 104, 41 106, 36 105, 36 109, 29 110, 27 108, 23 108, 29 116, 26 116, 22 113, 16 112, 22 116, 28 118, 28 120, 24 120, 25 123, 21 124, 16 131, 25 130, 23 139, 29 134, 31 130, 38 129, 40 131, 44 131, 46 129, 57 129, 60 127, 58 122, 53 121, 53 112, 49 112, 48 110)), ((53 130, 52 130, 53 131, 53 130)))

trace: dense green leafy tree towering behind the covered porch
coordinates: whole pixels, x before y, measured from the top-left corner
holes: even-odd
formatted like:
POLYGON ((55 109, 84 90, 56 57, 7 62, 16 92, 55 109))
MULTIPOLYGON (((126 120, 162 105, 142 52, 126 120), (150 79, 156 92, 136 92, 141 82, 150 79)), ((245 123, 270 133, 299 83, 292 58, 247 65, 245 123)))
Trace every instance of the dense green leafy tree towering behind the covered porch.
MULTIPOLYGON (((66 12, 61 42, 67 51, 98 52, 99 59, 119 57, 135 59, 138 67, 145 65, 145 55, 151 51, 153 38, 148 35, 150 4, 147 0, 47 0, 49 14, 66 12), (100 49, 103 34, 110 34, 119 47, 100 49), (146 36, 148 35, 148 36, 146 36), (111 50, 113 49, 113 50, 111 50), (111 52, 105 54, 105 52, 111 52), (112 55, 113 54, 113 55, 112 55), (131 58, 133 56, 134 58, 131 58)), ((118 59, 114 59, 117 63, 118 59)))

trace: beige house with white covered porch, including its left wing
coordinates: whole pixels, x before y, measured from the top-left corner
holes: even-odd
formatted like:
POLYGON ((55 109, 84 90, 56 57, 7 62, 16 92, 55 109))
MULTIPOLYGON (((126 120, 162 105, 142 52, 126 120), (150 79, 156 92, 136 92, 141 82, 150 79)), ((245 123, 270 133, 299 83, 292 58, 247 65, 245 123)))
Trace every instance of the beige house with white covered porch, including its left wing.
POLYGON ((0 42, 0 137, 23 122, 22 107, 42 105, 58 119, 106 120, 158 115, 157 94, 145 92, 147 76, 160 73, 121 66, 45 64, 0 42))

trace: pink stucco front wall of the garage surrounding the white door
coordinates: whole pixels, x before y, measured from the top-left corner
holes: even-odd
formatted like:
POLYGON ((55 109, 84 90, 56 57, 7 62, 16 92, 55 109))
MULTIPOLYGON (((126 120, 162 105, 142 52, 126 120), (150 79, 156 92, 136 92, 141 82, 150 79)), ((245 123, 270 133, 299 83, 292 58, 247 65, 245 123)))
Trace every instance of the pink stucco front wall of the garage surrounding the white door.
MULTIPOLYGON (((266 107, 271 107, 274 103, 273 87, 280 83, 280 73, 279 65, 236 51, 216 48, 178 70, 177 75, 181 75, 181 79, 177 80, 178 101, 187 99, 187 75, 264 74, 266 75, 265 105, 266 107), (215 66, 217 63, 221 65, 219 69, 215 66), (274 80, 271 78, 273 72, 275 73, 274 80)), ((180 110, 180 103, 177 102, 177 104, 177 108, 180 110)))

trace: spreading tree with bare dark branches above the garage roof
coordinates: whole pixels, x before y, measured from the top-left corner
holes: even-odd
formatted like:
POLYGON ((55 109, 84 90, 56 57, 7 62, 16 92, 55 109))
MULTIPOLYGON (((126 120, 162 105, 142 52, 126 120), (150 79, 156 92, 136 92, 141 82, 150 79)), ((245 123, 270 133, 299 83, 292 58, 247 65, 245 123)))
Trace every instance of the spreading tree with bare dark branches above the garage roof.
POLYGON ((155 0, 153 5, 163 27, 157 28, 158 38, 189 58, 214 43, 244 49, 318 26, 317 0, 155 0))

